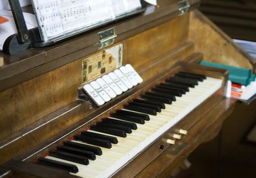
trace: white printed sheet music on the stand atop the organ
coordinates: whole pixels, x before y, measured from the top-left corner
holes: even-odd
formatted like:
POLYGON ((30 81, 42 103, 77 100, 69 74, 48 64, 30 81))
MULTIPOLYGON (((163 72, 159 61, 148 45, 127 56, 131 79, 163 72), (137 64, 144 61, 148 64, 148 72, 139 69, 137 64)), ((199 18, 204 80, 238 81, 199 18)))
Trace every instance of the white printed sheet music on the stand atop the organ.
POLYGON ((44 42, 141 8, 139 0, 33 0, 33 6, 44 42))

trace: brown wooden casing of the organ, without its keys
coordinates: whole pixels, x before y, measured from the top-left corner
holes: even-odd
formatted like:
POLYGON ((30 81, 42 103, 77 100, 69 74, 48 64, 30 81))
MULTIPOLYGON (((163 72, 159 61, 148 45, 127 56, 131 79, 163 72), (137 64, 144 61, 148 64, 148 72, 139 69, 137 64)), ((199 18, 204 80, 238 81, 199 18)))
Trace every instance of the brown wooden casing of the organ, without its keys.
MULTIPOLYGON (((188 2, 190 7, 181 10, 179 1, 158 1, 159 7, 148 6, 143 14, 54 46, 15 55, 1 53, 4 58, 4 66, 0 68, 1 175, 76 177, 63 169, 37 164, 38 159, 47 157, 57 146, 98 125, 181 71, 221 79, 220 87, 118 169, 97 175, 166 177, 199 144, 214 138, 237 102, 223 96, 228 72, 198 63, 218 62, 255 72, 256 62, 196 10, 199 1, 188 2), (103 49, 98 49, 98 33, 113 27, 117 37, 112 46, 123 45, 122 65, 131 64, 143 82, 96 107, 86 97, 79 97, 80 87, 90 82, 83 82, 83 60, 103 53, 103 49), (173 134, 180 135, 180 139, 173 138, 173 134)), ((103 71, 95 78, 108 72, 111 71, 103 71)), ((103 155, 104 152, 103 149, 103 155)), ((93 161, 89 160, 89 165, 90 162, 93 161)), ((85 177, 96 175, 94 171, 86 172, 85 177)))

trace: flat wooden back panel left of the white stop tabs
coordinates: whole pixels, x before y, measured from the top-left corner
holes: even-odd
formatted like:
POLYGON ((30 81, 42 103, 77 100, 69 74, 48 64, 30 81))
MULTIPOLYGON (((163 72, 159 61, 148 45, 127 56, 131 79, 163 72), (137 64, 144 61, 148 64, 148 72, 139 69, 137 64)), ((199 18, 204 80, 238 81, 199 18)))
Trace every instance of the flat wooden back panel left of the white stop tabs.
POLYGON ((25 81, 0 93, 1 135, 4 138, 77 98, 81 61, 25 81), (67 72, 68 71, 68 72, 67 72))

